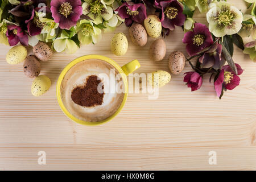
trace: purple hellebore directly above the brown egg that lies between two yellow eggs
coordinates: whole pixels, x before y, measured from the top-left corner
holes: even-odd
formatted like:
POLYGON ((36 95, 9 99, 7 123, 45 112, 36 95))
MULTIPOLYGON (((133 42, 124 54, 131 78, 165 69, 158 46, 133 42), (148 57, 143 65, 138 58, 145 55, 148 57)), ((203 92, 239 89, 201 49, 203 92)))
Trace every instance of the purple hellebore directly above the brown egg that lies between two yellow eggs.
POLYGON ((125 19, 127 27, 131 26, 133 21, 143 23, 143 20, 147 18, 146 7, 142 3, 124 2, 115 11, 118 11, 118 15, 125 19))

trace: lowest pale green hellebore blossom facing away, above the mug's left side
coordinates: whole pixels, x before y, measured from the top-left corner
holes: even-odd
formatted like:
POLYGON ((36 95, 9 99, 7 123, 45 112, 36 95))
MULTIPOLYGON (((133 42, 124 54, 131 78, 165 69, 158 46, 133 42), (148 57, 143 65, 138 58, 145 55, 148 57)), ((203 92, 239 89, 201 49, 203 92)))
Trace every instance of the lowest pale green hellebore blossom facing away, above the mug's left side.
POLYGON ((79 49, 77 44, 70 39, 70 35, 68 35, 65 30, 63 30, 60 36, 53 41, 52 48, 54 48, 56 52, 65 51, 68 54, 75 53, 79 49))

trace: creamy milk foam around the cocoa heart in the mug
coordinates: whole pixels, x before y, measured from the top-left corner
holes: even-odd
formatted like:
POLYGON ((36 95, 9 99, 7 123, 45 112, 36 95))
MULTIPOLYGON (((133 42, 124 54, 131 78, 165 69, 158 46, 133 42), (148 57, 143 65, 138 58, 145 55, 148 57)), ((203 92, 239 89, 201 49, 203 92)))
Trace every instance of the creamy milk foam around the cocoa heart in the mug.
MULTIPOLYGON (((81 61, 74 65, 64 76, 61 82, 61 100, 69 113, 74 117, 81 119, 82 121, 102 121, 117 111, 122 103, 123 93, 110 93, 106 90, 108 88, 109 80, 102 79, 104 84, 104 97, 102 105, 93 107, 83 107, 75 104, 71 98, 71 93, 76 86, 84 85, 86 78, 91 75, 100 75, 105 73, 110 77, 110 69, 115 69, 109 63, 102 60, 90 59, 81 61)), ((115 75, 118 71, 115 69, 115 75)), ((115 84, 118 84, 118 80, 115 80, 115 84)))

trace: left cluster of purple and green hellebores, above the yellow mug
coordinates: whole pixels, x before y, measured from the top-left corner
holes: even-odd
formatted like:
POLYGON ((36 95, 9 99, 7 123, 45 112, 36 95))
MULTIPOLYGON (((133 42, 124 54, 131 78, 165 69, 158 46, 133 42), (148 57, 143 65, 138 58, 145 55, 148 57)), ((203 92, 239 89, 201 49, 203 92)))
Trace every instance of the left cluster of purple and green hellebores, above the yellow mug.
POLYGON ((97 43, 102 30, 124 20, 115 0, 2 0, 0 42, 35 46, 51 42, 57 52, 74 53, 82 44, 97 43))

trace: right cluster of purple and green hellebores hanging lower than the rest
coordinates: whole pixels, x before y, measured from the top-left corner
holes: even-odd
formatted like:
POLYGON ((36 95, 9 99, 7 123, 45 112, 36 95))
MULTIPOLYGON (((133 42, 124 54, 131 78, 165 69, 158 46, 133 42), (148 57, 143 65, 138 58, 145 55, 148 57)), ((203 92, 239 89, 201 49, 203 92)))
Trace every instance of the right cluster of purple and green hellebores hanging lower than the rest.
POLYGON ((214 88, 221 98, 224 90, 232 90, 240 84, 238 75, 243 72, 232 59, 233 44, 256 61, 256 1, 245 1, 251 7, 250 14, 243 15, 237 7, 220 0, 144 0, 144 3, 123 3, 118 15, 125 19, 126 26, 130 26, 133 21, 143 23, 147 14, 157 14, 164 36, 170 34, 175 26, 182 26, 185 32, 183 43, 187 44, 186 49, 191 56, 187 61, 194 69, 194 72, 185 73, 184 82, 192 91, 198 90, 203 83, 203 75, 211 73, 210 81, 214 76, 214 88), (196 8, 207 14, 209 28, 193 20, 196 8), (241 37, 247 41, 246 44, 241 37), (190 60, 195 57, 197 63, 193 65, 190 60), (224 65, 226 62, 228 65, 224 65))

